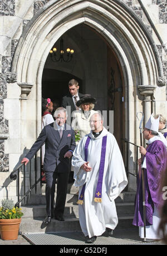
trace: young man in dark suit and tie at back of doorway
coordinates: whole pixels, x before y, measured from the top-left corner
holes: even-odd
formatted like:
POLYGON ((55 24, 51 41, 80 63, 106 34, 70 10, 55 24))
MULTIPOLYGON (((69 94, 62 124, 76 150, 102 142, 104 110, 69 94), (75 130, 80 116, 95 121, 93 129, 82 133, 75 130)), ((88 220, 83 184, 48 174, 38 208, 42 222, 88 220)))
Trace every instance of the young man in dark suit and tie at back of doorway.
MULTIPOLYGON (((77 80, 71 79, 68 82, 69 93, 66 96, 63 96, 62 98, 62 107, 66 108, 67 106, 70 106, 71 114, 75 110, 80 110, 76 106, 76 102, 81 98, 81 96, 84 96, 84 95, 78 92, 79 88, 80 86, 78 85, 77 80)), ((72 121, 72 115, 71 115, 71 121, 72 121)))

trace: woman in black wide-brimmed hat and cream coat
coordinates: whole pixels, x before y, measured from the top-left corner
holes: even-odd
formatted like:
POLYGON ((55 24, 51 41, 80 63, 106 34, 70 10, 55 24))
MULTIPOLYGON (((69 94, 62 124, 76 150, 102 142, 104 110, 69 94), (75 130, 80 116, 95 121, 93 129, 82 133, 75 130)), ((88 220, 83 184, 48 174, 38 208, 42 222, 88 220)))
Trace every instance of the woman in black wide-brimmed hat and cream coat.
POLYGON ((90 133, 90 117, 97 113, 93 110, 96 104, 96 99, 93 98, 90 94, 85 94, 80 100, 76 103, 77 107, 81 110, 72 112, 72 124, 71 127, 75 131, 80 132, 80 139, 86 134, 90 133))

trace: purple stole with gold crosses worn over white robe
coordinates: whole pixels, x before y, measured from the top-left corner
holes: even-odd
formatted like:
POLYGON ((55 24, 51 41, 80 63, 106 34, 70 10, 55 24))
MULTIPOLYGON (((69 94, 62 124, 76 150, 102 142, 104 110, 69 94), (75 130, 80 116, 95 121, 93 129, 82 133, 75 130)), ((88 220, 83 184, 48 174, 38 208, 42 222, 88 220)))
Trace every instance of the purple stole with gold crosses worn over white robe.
MULTIPOLYGON (((85 143, 85 162, 87 162, 87 148, 89 146, 90 137, 87 137, 86 143, 85 143)), ((101 146, 101 158, 100 158, 100 166, 99 166, 99 178, 97 182, 96 187, 96 193, 95 193, 95 202, 102 202, 101 196, 102 196, 102 179, 104 175, 104 166, 105 166, 105 154, 106 154, 106 143, 107 143, 107 136, 102 137, 102 146, 101 146)), ((80 197, 77 201, 77 204, 82 205, 84 200, 84 194, 85 194, 85 186, 86 183, 83 185, 80 197)))

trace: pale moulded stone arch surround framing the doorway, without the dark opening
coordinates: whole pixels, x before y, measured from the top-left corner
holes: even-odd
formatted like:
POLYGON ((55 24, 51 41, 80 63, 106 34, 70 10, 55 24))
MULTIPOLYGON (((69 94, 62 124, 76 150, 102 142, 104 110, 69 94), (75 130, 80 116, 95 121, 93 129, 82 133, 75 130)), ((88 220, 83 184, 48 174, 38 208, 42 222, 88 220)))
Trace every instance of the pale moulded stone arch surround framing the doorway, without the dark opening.
MULTIPOLYGON (((140 144, 136 113, 144 112, 147 120, 155 112, 153 95, 157 88, 160 92, 158 85, 164 85, 159 84, 163 80, 163 67, 152 37, 135 13, 119 0, 50 0, 25 27, 12 62, 12 72, 17 73, 17 85, 21 88, 23 153, 41 131, 41 81, 48 52, 63 33, 81 23, 99 32, 120 62, 125 85, 125 137, 140 144), (25 118, 32 108, 32 115, 25 118)), ((165 94, 162 97, 158 100, 165 102, 165 94)), ((130 146, 130 172, 134 172, 135 154, 130 146)), ((134 190, 135 182, 129 176, 129 190, 134 190)))

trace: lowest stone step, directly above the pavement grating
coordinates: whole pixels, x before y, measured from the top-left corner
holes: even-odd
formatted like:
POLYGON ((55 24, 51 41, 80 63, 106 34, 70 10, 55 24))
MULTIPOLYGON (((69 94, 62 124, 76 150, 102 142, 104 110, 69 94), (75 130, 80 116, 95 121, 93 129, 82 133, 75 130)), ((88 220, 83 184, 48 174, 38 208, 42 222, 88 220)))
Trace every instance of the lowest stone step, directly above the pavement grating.
MULTIPOLYGON (((119 223, 116 229, 136 228, 132 225, 131 215, 124 215, 119 217, 119 223)), ((48 226, 42 224, 43 219, 40 218, 22 218, 19 231, 22 233, 45 233, 57 231, 81 231, 80 223, 77 218, 65 218, 65 221, 58 221, 52 219, 48 226)))

